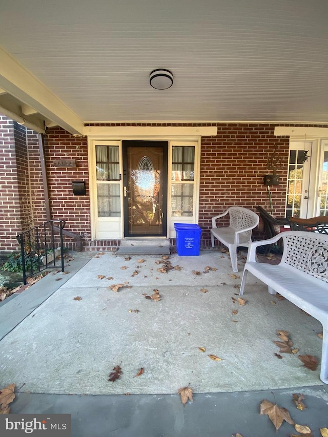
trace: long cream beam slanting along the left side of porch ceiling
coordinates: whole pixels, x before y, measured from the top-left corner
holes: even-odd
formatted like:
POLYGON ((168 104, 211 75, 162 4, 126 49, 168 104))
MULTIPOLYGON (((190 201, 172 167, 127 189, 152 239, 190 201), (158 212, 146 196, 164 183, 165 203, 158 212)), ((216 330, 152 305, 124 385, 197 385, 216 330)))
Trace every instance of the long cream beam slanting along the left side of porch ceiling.
POLYGON ((0 48, 0 88, 71 134, 83 133, 83 120, 2 48, 0 48))

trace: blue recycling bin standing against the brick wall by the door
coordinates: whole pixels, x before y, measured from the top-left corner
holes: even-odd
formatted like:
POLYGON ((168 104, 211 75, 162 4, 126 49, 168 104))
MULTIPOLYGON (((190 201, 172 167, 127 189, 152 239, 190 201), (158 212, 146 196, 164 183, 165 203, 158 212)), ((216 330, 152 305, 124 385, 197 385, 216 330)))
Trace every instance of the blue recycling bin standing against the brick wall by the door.
POLYGON ((174 223, 176 251, 180 257, 198 256, 201 228, 194 223, 174 223))

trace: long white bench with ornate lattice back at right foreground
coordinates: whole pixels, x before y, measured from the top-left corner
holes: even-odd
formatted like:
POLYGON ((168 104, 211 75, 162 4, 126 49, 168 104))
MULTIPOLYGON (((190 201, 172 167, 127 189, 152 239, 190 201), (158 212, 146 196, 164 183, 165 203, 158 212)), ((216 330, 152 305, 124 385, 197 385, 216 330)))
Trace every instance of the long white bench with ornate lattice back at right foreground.
POLYGON ((270 294, 279 293, 323 326, 320 379, 328 384, 328 236, 314 232, 288 231, 269 240, 253 242, 241 280, 244 292, 247 273, 268 285, 270 294), (278 265, 256 262, 256 248, 283 239, 278 265))

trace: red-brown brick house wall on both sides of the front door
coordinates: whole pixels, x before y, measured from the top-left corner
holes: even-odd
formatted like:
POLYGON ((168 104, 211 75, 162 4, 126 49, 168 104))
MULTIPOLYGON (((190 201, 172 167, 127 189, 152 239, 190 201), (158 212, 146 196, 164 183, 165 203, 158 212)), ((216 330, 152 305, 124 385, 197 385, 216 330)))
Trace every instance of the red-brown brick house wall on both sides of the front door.
MULTIPOLYGON (((17 229, 22 224, 20 210, 25 184, 22 175, 26 174, 23 169, 26 168, 27 159, 31 192, 35 193, 34 198, 37 199, 36 224, 46 220, 47 199, 43 197, 37 136, 27 131, 28 149, 25 150, 26 142, 24 143, 22 127, 10 122, 6 117, 0 118, 0 123, 2 123, 0 167, 3 169, 0 190, 4 200, 0 214, 2 217, 8 217, 0 223, 2 237, 0 250, 5 250, 13 249, 15 246, 14 236, 20 232, 20 230, 17 232, 17 229), (19 192, 21 192, 20 198, 19 192)), ((213 126, 213 123, 200 124, 213 126)), ((92 126, 119 125, 199 126, 199 123, 92 124, 92 126)), ((229 206, 240 205, 255 211, 256 205, 259 204, 267 210, 270 209, 268 188, 263 184, 263 177, 265 174, 272 173, 265 167, 268 155, 273 153, 275 146, 282 158, 283 169, 277 171, 280 185, 271 187, 273 212, 276 216, 283 216, 284 213, 289 138, 275 137, 275 124, 217 123, 216 126, 217 135, 202 137, 201 141, 199 224, 203 229, 202 246, 211 244, 211 217, 223 212, 229 206)), ((91 228, 87 138, 75 138, 60 128, 49 129, 45 135, 45 159, 52 218, 66 220, 67 230, 83 235, 84 244, 89 245, 91 228), (77 167, 56 167, 55 159, 75 159, 77 167), (86 181, 86 196, 73 195, 72 181, 74 180, 86 181)), ((259 230, 254 234, 259 234, 259 230)), ((75 243, 65 237, 65 246, 74 248, 75 243)))

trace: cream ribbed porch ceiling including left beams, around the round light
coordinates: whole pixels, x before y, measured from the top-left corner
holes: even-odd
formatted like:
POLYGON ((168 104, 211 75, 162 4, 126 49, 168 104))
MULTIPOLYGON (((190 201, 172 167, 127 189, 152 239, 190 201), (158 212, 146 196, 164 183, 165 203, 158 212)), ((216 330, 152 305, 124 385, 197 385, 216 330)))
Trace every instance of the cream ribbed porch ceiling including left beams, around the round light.
POLYGON ((326 0, 3 0, 0 112, 88 122, 328 122, 326 0), (169 69, 173 86, 149 74, 169 69))

